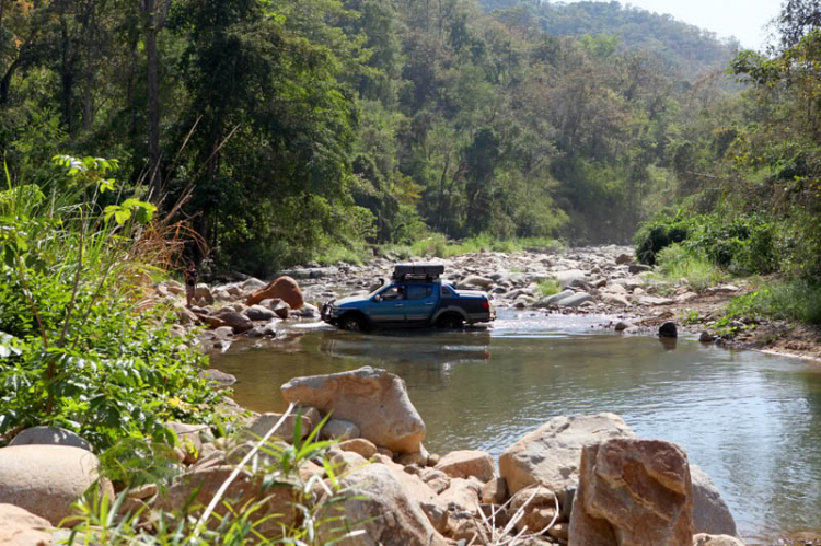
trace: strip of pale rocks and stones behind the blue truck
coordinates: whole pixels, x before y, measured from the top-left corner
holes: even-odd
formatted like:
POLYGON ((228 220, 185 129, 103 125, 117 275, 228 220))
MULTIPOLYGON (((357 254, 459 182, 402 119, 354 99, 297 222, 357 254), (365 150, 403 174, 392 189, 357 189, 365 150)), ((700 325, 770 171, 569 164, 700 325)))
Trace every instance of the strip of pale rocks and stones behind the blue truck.
MULTIPOLYGON (((204 350, 226 350, 236 336, 281 339, 282 321, 319 321, 322 303, 367 293, 380 277, 390 278, 397 262, 402 260, 388 254, 363 266, 309 264, 281 271, 294 282, 280 287, 254 278, 200 284, 197 305, 190 310, 184 306, 183 287, 173 281, 158 286, 154 298, 175 305, 181 326, 210 327, 200 336, 204 350)), ((432 262, 444 264, 447 281, 486 291, 496 307, 602 315, 606 318, 601 327, 624 335, 656 335, 663 323, 673 322, 679 330, 703 335, 705 342, 821 361, 821 334, 811 326, 750 321, 718 330, 716 322, 728 301, 750 290, 747 281, 703 291, 693 289, 687 279, 663 282, 650 267, 637 264, 627 246, 487 252, 432 262), (546 293, 545 287, 556 293, 546 293)))

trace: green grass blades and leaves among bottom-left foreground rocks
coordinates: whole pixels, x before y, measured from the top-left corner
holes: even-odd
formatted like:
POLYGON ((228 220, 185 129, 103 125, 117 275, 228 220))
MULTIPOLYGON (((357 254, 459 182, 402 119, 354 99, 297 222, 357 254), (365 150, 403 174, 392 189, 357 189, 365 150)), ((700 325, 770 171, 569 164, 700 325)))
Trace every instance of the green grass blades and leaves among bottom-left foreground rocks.
MULTIPOLYGON (((146 467, 146 460, 153 461, 152 455, 157 455, 155 448, 144 442, 122 441, 101 458, 103 475, 111 476, 114 472, 117 478, 123 477, 124 458, 125 466, 139 467, 140 472, 125 475, 127 479, 120 484, 125 490, 114 500, 99 495, 96 488, 90 489, 76 504, 79 515, 66 521, 72 525, 68 544, 321 545, 361 535, 363 531, 356 527, 365 522, 350 521, 343 511, 345 502, 361 498, 342 484, 345 472, 356 468, 342 471, 339 464, 331 462, 327 450, 333 442, 316 440, 321 425, 302 439, 300 422, 297 419, 293 438, 288 439, 291 445, 261 440, 255 446, 258 452, 241 469, 242 479, 258 485, 263 497, 244 503, 232 498, 218 498, 219 514, 196 504, 178 507, 172 512, 147 511, 149 509, 144 507, 123 510, 129 487, 142 483, 163 486, 169 483, 169 475, 161 464, 146 467), (114 467, 112 463, 115 463, 114 467), (300 468, 305 464, 321 465, 327 478, 322 474, 310 477, 302 474, 300 468), (290 496, 290 508, 299 514, 294 523, 278 525, 278 533, 271 532, 270 527, 277 527, 277 522, 286 514, 266 514, 268 495, 290 496), (151 528, 143 524, 147 520, 153 522, 151 528), (263 525, 268 527, 265 533, 263 525), (321 536, 327 537, 327 542, 321 536)), ((227 440, 233 442, 234 439, 227 440)))

